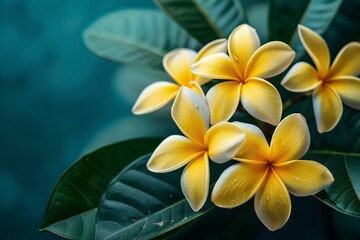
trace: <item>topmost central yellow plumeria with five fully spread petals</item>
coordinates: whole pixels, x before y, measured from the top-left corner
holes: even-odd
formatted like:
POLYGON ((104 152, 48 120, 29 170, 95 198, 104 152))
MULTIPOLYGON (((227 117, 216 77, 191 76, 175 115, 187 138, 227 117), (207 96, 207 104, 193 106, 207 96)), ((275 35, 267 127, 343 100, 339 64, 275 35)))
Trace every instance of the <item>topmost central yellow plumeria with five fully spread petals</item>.
POLYGON ((255 118, 277 125, 282 103, 276 88, 265 81, 283 72, 295 52, 283 42, 269 42, 260 47, 255 29, 242 24, 228 41, 228 52, 209 55, 192 66, 193 73, 212 79, 229 80, 212 87, 206 94, 211 124, 227 121, 241 101, 255 118))

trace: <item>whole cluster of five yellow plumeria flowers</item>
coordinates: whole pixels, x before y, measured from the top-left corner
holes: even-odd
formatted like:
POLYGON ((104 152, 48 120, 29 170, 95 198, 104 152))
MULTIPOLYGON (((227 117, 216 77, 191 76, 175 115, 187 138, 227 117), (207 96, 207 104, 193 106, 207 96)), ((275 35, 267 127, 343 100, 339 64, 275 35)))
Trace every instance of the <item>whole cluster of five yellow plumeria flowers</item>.
MULTIPOLYGON (((314 90, 318 131, 327 132, 342 115, 342 101, 360 109, 360 79, 355 77, 360 73, 360 44, 346 45, 329 67, 328 46, 321 36, 301 25, 298 30, 316 70, 299 62, 281 84, 294 92, 314 90)), ((285 71, 294 57, 295 52, 283 42, 260 46, 255 29, 246 24, 234 29, 228 41, 215 40, 198 53, 191 49, 167 53, 163 66, 176 83, 149 85, 133 113, 153 112, 175 99, 171 115, 186 137, 166 138, 152 154, 148 169, 163 173, 186 165, 181 188, 191 208, 198 211, 209 192, 209 159, 216 163, 234 159, 238 163, 217 180, 212 202, 233 208, 255 195, 255 211, 262 223, 270 230, 281 228, 291 212, 289 192, 308 196, 334 181, 323 165, 299 160, 310 146, 306 120, 301 114, 292 114, 280 122, 280 94, 264 80, 285 71), (212 79, 226 81, 205 95, 201 85, 212 79), (257 126, 227 122, 239 102, 253 117, 277 126, 270 144, 257 126)))

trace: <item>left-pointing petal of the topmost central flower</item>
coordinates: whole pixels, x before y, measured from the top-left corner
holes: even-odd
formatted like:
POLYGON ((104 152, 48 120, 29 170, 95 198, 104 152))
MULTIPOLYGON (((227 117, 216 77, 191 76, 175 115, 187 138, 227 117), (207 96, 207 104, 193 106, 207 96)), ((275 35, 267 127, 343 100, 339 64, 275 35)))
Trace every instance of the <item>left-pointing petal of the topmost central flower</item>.
POLYGON ((194 74, 211 79, 238 80, 239 75, 230 57, 225 53, 214 53, 191 66, 194 74))

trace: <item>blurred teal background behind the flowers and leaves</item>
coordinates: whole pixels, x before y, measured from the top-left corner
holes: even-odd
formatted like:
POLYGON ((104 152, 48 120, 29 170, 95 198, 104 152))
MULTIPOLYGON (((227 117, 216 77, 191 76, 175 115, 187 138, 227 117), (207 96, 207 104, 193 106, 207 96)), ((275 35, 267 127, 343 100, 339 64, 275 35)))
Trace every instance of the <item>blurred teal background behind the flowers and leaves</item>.
MULTIPOLYGON (((155 5, 150 0, 0 0, 0 239, 59 239, 38 227, 56 181, 79 156, 116 140, 174 130, 157 121, 164 118, 161 113, 131 115, 139 91, 158 79, 139 79, 136 70, 95 56, 82 41, 82 31, 95 19, 129 7, 155 5), (133 89, 124 90, 129 81, 133 89)), ((258 14, 250 20, 266 33, 266 8, 253 9, 258 14)), ((154 75, 167 77, 149 74, 154 75)), ((284 231, 263 231, 257 238, 285 237, 301 225, 312 237, 336 239, 336 231, 359 225, 315 198, 301 200, 307 209, 296 208, 295 199, 284 231)), ((252 206, 248 214, 259 224, 252 206)))

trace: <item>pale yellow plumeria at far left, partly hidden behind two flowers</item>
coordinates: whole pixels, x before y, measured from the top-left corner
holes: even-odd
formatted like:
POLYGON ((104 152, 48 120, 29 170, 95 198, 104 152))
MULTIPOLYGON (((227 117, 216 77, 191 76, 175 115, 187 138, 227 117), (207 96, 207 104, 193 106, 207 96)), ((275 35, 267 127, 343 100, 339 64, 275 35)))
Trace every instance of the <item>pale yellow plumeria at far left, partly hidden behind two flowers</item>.
POLYGON ((190 67, 209 54, 226 52, 226 45, 226 39, 218 39, 205 45, 198 54, 194 50, 186 48, 175 49, 165 54, 164 69, 176 83, 159 81, 150 84, 136 100, 132 112, 140 115, 162 108, 175 98, 181 86, 189 87, 205 97, 200 86, 211 79, 194 75, 190 67))

